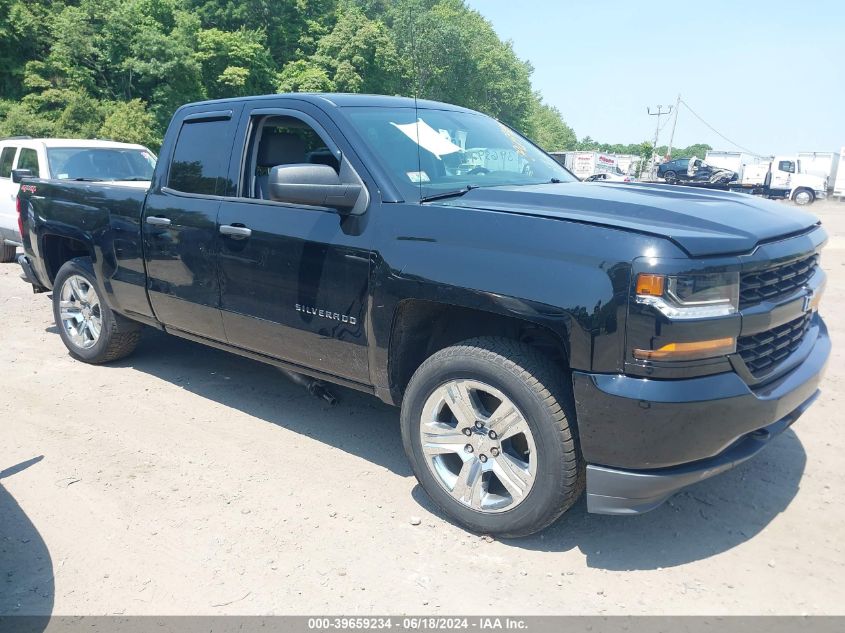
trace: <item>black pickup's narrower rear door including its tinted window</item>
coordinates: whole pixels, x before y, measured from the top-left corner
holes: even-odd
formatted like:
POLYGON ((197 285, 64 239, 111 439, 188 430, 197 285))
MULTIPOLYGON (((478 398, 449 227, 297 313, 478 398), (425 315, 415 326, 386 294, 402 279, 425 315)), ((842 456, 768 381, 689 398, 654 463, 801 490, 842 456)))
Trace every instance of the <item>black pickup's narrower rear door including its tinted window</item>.
POLYGON ((232 141, 242 106, 192 110, 162 160, 144 210, 147 288, 165 325, 225 341, 220 313, 217 212, 231 183, 232 141))

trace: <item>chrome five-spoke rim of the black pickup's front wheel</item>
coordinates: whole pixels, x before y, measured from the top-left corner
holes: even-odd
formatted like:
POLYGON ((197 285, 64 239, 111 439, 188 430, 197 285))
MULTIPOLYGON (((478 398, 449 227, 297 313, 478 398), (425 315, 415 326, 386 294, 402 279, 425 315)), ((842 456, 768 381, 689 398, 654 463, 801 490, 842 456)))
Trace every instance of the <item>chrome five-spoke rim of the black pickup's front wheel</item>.
POLYGON ((423 406, 420 440, 437 482, 473 510, 511 510, 534 486, 537 450, 528 422, 490 385, 452 380, 435 389, 423 406))

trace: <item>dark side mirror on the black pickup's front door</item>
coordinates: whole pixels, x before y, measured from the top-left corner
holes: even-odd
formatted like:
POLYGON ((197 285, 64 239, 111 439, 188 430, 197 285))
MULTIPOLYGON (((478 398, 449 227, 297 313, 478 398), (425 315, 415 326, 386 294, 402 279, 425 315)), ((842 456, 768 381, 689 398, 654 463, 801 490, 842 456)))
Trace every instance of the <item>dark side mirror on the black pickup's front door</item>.
POLYGON ((340 181, 328 165, 277 165, 270 170, 270 199, 276 202, 332 207, 350 211, 361 195, 361 185, 340 181))

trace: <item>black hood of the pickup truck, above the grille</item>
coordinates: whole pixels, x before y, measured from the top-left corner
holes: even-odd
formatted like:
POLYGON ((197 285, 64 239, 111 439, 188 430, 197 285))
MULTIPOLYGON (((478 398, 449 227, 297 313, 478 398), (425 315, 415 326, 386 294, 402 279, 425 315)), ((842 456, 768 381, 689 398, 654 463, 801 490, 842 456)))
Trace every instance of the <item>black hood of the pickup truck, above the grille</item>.
POLYGON ((689 255, 751 251, 818 219, 744 193, 641 183, 480 187, 439 204, 599 224, 672 240, 689 255))

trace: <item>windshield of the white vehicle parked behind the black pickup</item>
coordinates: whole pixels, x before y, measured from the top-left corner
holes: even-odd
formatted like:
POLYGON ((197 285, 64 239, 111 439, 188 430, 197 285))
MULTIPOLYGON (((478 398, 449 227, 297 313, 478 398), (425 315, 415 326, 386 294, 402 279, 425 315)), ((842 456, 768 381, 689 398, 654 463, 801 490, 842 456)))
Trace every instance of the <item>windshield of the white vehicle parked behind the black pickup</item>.
POLYGON ((50 175, 61 180, 151 180, 156 157, 148 149, 47 148, 50 175))

